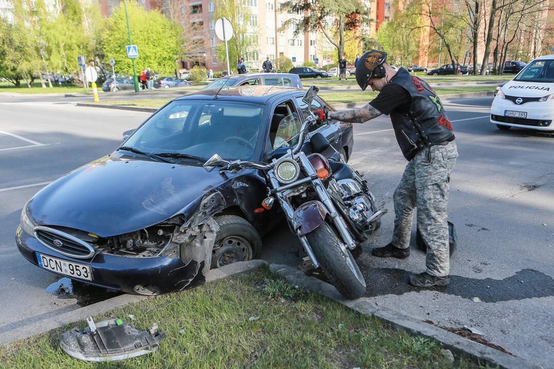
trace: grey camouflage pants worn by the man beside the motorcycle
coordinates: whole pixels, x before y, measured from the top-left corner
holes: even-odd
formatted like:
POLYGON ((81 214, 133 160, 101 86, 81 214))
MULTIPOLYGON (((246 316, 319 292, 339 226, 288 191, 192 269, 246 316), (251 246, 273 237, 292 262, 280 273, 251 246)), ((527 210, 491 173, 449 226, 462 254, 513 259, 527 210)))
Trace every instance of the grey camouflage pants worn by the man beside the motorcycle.
POLYGON ((428 245, 427 273, 437 277, 450 274, 447 202, 450 173, 457 157, 455 141, 419 150, 406 165, 393 195, 392 244, 398 248, 409 247, 413 212, 417 207, 417 227, 428 245))

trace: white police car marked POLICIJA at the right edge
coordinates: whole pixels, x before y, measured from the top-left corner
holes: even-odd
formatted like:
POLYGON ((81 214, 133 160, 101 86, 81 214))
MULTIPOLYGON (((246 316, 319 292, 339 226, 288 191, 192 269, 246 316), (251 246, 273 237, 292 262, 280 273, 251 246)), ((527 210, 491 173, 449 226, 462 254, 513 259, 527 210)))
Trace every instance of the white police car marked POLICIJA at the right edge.
POLYGON ((496 88, 490 122, 499 129, 554 131, 554 55, 537 58, 496 88))

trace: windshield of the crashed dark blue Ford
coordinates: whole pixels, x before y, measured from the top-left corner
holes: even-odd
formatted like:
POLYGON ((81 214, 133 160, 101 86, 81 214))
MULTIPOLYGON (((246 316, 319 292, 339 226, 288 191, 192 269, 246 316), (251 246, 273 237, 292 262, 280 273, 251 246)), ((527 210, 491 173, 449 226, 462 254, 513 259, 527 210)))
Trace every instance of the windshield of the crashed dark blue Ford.
POLYGON ((137 129, 125 147, 206 160, 216 153, 227 160, 250 160, 263 109, 240 102, 173 101, 137 129))

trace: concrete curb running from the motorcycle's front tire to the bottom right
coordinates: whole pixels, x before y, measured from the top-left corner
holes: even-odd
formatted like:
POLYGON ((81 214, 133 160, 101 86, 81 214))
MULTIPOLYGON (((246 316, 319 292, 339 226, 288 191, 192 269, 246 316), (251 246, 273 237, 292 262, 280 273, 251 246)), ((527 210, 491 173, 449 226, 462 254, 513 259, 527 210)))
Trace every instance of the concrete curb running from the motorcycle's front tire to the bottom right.
POLYGON ((324 295, 336 302, 356 310, 364 315, 373 315, 386 321, 389 326, 397 330, 405 330, 411 335, 422 335, 434 341, 440 342, 447 349, 455 354, 468 356, 474 361, 486 362, 505 369, 538 369, 540 366, 515 356, 497 351, 491 347, 481 345, 477 342, 465 339, 459 335, 440 329, 434 325, 427 324, 421 320, 398 313, 397 311, 381 308, 373 304, 367 298, 347 300, 329 283, 325 283, 314 277, 307 277, 303 272, 282 264, 271 264, 272 272, 279 274, 290 283, 299 287, 324 295))

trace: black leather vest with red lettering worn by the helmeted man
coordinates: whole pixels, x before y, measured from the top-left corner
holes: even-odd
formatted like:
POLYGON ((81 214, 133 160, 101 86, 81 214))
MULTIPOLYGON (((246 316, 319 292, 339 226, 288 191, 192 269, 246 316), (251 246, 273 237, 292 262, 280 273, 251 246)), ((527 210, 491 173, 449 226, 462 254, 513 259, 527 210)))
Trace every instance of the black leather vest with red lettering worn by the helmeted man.
POLYGON ((411 105, 408 112, 392 111, 391 121, 404 158, 411 160, 419 149, 454 139, 442 102, 427 82, 400 68, 389 82, 408 91, 411 105))

